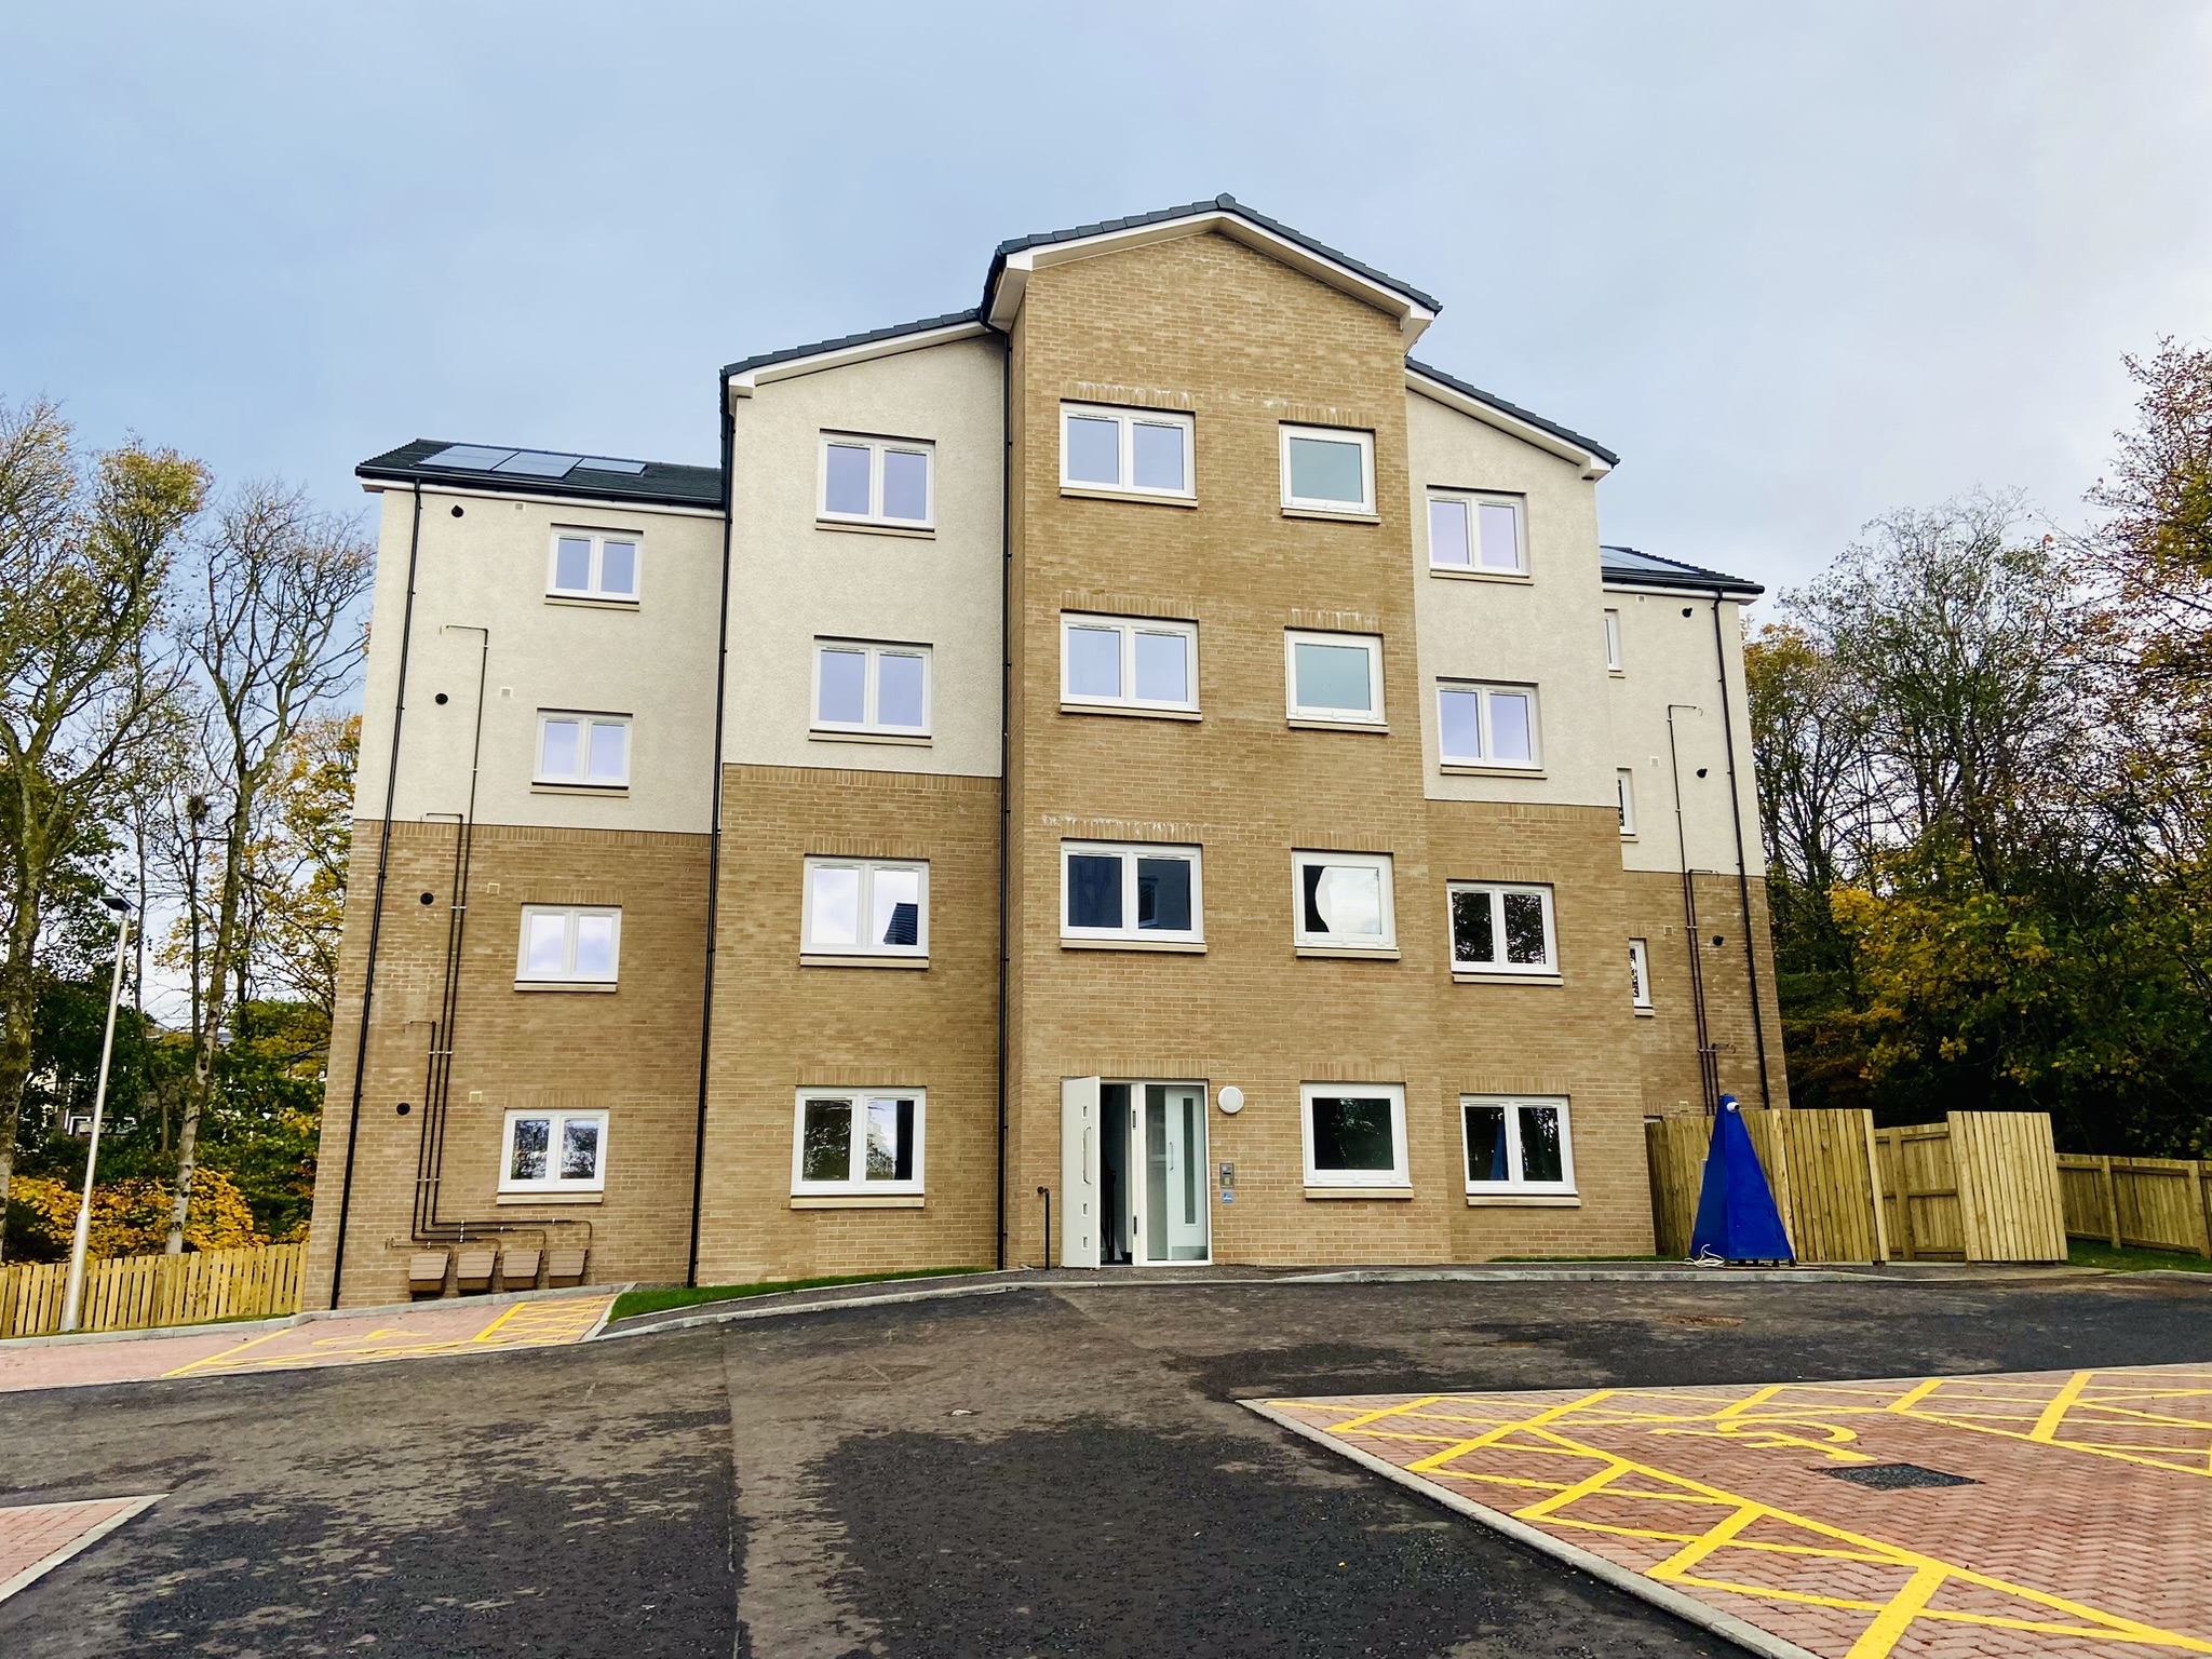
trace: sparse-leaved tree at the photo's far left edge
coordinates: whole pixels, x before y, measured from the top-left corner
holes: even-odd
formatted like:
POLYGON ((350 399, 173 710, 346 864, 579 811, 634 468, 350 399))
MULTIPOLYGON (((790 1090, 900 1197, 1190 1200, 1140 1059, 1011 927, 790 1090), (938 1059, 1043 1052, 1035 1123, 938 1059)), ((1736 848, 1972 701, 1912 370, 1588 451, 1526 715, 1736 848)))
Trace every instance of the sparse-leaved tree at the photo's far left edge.
POLYGON ((80 467, 51 403, 0 407, 0 1210, 31 1073, 46 902, 104 845, 175 675, 164 584, 206 476, 126 445, 80 467))

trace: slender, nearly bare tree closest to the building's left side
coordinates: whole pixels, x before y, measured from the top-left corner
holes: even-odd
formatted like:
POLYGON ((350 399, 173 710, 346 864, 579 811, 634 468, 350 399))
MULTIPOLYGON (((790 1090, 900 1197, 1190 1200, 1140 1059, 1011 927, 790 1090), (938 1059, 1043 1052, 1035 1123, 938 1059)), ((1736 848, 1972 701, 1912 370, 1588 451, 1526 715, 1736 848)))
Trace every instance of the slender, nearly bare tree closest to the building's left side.
POLYGON ((226 1013, 243 1004, 237 978, 252 962, 254 832, 301 726, 352 684, 367 648, 356 606, 374 575, 374 551, 352 524, 314 513, 301 491, 276 484, 232 495, 195 553, 181 639, 208 701, 204 765, 212 787, 199 799, 208 801, 217 847, 190 896, 206 949, 195 951, 199 995, 177 1128, 170 1254, 184 1250, 226 1013))

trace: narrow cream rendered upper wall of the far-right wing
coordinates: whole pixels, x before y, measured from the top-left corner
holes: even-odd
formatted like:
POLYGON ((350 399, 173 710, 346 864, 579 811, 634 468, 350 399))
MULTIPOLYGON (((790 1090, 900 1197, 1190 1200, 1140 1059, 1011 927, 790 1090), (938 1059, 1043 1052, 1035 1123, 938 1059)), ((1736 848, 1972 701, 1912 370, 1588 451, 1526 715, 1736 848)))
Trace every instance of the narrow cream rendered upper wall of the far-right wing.
POLYGON ((1621 672, 1613 692, 1610 765, 1637 774, 1637 834, 1621 843, 1628 869, 1679 872, 1683 843, 1690 869, 1736 872, 1736 821, 1728 807, 1728 732, 1721 726, 1721 664, 1728 666, 1728 714, 1736 737, 1736 807, 1750 874, 1765 874, 1759 847, 1759 785, 1752 774, 1752 721, 1743 692, 1741 606, 1721 602, 1721 648, 1712 639, 1712 595, 1608 588, 1604 604, 1621 613, 1621 672), (1690 615, 1686 617, 1683 611, 1690 615), (1668 703, 1674 710, 1674 754, 1668 763, 1668 703), (1705 768, 1705 776, 1699 776, 1705 768), (1674 830, 1674 776, 1681 781, 1681 834, 1674 830))

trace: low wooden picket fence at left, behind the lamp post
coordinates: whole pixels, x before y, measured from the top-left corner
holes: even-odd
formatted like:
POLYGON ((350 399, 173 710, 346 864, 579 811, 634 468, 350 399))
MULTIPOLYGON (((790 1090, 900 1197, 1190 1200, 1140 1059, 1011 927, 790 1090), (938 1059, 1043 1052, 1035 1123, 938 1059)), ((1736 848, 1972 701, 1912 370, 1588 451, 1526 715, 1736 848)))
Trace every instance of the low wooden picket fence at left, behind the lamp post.
MULTIPOLYGON (((305 1243, 88 1261, 77 1329, 122 1332, 296 1314, 305 1263, 305 1243)), ((66 1261, 0 1267, 0 1336, 46 1336, 62 1329, 66 1290, 66 1261)))

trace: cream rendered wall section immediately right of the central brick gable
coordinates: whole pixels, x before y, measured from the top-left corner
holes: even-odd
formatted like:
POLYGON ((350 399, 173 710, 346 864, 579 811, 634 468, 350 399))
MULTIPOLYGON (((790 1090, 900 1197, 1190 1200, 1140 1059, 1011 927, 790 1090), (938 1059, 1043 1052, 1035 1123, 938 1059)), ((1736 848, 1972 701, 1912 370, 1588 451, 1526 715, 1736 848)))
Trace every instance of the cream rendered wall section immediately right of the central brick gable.
MULTIPOLYGON (((1613 805, 1613 699, 1597 571, 1597 487, 1582 469, 1407 392, 1422 790, 1431 801, 1613 805), (1429 571, 1429 489, 1526 498, 1528 577, 1429 571), (1438 679, 1537 688, 1542 776, 1438 772, 1438 679)), ((1389 641, 1385 641, 1389 650, 1389 641)), ((1389 710, 1391 723, 1405 719, 1389 710)))

